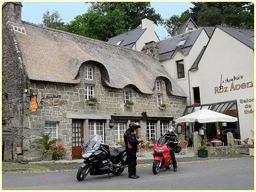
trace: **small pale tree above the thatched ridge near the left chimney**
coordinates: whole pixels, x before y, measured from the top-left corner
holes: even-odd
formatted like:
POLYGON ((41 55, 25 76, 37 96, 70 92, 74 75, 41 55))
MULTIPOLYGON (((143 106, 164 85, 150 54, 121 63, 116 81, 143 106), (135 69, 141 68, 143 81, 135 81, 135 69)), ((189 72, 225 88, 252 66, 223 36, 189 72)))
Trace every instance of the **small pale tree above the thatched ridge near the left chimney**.
POLYGON ((49 11, 46 11, 43 15, 43 24, 48 28, 54 29, 64 29, 65 25, 62 22, 62 18, 58 11, 54 11, 54 13, 50 14, 49 11))

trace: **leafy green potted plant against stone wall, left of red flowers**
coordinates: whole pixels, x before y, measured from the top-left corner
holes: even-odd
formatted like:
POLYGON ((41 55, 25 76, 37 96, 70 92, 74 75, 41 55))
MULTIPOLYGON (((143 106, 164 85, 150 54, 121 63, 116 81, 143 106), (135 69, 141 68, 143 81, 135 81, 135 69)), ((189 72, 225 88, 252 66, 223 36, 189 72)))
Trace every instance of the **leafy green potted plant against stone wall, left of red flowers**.
POLYGON ((35 143, 39 144, 40 146, 40 151, 42 152, 43 156, 44 156, 44 161, 51 161, 52 160, 52 156, 54 154, 54 151, 52 151, 50 149, 50 146, 52 144, 54 144, 57 140, 54 139, 52 141, 49 141, 49 134, 47 135, 42 135, 42 138, 40 139, 36 139, 35 143))

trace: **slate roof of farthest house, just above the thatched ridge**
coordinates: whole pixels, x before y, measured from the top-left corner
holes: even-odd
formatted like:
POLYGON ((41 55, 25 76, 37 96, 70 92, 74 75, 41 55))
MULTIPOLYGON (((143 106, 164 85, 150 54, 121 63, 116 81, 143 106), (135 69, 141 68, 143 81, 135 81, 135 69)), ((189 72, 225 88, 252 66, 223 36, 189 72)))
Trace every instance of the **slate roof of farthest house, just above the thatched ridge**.
POLYGON ((139 27, 139 28, 133 29, 131 31, 122 33, 120 35, 113 36, 112 38, 110 38, 108 40, 108 43, 117 45, 117 42, 122 41, 122 43, 120 44, 121 46, 130 45, 129 48, 132 48, 132 46, 137 42, 137 40, 139 40, 141 35, 143 35, 144 31, 146 31, 146 28, 142 29, 142 27, 139 27))

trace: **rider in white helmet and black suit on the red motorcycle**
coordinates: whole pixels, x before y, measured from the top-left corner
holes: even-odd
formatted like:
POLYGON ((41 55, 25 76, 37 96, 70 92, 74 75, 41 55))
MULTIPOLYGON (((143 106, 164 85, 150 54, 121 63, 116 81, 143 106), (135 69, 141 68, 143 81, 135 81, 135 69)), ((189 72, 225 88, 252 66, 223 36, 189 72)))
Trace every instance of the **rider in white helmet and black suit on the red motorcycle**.
POLYGON ((173 132, 173 127, 170 127, 166 134, 164 135, 165 139, 169 141, 168 146, 170 149, 170 156, 172 157, 172 163, 173 163, 173 171, 177 171, 177 161, 174 154, 174 144, 173 142, 177 142, 177 137, 175 136, 173 132))

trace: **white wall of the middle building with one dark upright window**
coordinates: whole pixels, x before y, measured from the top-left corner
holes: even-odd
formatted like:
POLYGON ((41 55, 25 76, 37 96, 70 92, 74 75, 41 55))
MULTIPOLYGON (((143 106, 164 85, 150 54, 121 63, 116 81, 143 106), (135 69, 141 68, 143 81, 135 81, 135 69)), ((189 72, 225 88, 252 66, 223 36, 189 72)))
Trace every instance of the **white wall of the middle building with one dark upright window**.
MULTIPOLYGON (((184 90, 187 94, 187 105, 190 104, 189 100, 189 78, 188 78, 188 71, 190 67, 193 65, 195 59, 201 52, 202 48, 207 44, 209 38, 204 30, 202 30, 201 34, 195 41, 194 46, 192 46, 189 55, 184 55, 181 51, 177 51, 173 58, 169 60, 161 61, 161 64, 165 67, 166 71, 170 73, 172 78, 176 80, 178 85, 184 90), (184 68, 185 68, 185 78, 178 78, 177 77, 177 65, 176 61, 183 60, 184 61, 184 68)), ((193 92, 191 92, 192 94, 193 92)), ((194 104, 194 102, 192 102, 194 104)))

